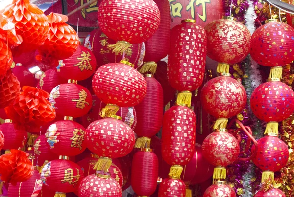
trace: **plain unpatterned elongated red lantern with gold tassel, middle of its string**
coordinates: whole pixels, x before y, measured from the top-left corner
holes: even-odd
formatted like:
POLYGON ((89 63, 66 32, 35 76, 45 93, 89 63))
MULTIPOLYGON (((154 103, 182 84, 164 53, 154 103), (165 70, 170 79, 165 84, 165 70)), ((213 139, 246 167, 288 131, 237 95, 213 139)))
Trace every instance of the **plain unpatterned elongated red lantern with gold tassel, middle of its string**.
POLYGON ((147 83, 146 96, 141 103, 135 106, 137 125, 134 131, 139 136, 136 141, 136 148, 146 148, 145 145, 150 148, 150 138, 160 130, 162 125, 162 87, 153 75, 145 74, 144 78, 147 83))

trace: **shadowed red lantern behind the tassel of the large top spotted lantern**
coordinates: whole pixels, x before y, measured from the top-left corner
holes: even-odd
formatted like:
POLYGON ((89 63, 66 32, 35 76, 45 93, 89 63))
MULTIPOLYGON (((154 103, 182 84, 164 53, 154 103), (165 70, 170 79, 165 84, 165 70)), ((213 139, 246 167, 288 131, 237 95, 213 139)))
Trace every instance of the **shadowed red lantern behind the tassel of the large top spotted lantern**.
MULTIPOLYGON (((116 42, 108 38, 100 28, 90 32, 85 38, 84 46, 93 51, 96 57, 97 67, 108 63, 117 63, 123 59, 123 55, 112 53, 108 48, 107 44, 115 44, 116 42)), ((131 44, 130 47, 125 51, 124 60, 134 64, 134 68, 141 66, 145 54, 144 43, 131 44)))

